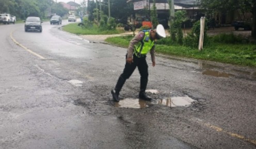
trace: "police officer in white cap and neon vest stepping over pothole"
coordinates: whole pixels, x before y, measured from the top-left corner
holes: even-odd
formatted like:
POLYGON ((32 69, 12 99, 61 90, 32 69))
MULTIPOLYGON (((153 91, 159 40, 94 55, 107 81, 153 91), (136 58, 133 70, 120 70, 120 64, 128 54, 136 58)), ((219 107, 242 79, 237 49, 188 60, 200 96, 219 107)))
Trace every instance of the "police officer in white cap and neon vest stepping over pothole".
POLYGON ((115 89, 111 90, 115 102, 119 102, 119 92, 125 80, 132 75, 136 67, 138 67, 140 73, 139 98, 146 101, 152 100, 151 97, 147 96, 145 93, 149 76, 146 55, 150 51, 152 66, 155 67, 155 40, 165 37, 166 34, 163 25, 158 24, 156 29, 139 31, 130 41, 123 73, 119 76, 115 89))

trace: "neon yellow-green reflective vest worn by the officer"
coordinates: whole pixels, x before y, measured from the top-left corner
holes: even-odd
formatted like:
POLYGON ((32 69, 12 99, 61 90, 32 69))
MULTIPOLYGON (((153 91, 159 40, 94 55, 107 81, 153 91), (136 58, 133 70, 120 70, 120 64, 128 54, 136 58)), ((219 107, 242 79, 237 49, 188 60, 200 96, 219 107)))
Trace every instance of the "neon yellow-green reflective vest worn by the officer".
POLYGON ((134 46, 134 53, 137 57, 145 56, 150 49, 154 46, 155 41, 150 39, 149 30, 143 30, 145 32, 144 38, 138 45, 134 46))

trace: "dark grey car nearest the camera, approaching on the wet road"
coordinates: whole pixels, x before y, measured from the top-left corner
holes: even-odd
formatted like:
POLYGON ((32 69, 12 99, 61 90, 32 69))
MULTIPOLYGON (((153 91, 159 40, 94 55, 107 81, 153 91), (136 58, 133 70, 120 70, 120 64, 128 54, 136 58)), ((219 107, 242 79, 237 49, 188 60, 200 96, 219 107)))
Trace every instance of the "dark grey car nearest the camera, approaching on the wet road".
POLYGON ((28 16, 25 21, 25 31, 42 32, 42 21, 37 16, 28 16))

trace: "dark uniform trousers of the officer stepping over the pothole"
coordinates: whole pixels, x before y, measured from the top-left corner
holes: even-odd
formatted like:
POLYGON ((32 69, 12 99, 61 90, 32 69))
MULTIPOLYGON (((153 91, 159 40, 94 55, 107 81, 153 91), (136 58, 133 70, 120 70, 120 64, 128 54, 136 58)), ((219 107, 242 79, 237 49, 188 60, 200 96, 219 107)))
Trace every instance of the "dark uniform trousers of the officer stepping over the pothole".
MULTIPOLYGON (((126 58, 127 58, 127 54, 126 54, 126 58)), ((134 54, 133 62, 131 64, 127 63, 127 62, 125 63, 123 73, 120 75, 120 77, 117 81, 117 85, 115 87, 115 91, 116 91, 117 95, 119 95, 119 92, 122 89, 125 80, 130 78, 130 76, 133 74, 136 67, 138 67, 139 74, 140 74, 140 93, 145 93, 147 84, 148 84, 148 76, 149 76, 146 55, 137 57, 134 54)))

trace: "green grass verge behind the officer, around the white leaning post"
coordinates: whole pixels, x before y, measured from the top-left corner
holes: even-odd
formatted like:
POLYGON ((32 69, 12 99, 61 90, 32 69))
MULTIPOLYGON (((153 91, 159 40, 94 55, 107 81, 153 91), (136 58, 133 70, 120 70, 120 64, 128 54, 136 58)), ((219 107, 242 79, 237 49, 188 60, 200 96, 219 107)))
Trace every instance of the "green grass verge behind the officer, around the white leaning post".
MULTIPOLYGON (((106 42, 127 48, 131 39, 132 36, 109 37, 106 42)), ((155 51, 166 55, 256 67, 255 44, 213 43, 204 47, 201 52, 197 48, 187 46, 156 44, 155 51)))

